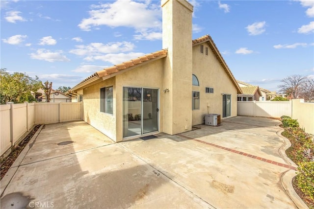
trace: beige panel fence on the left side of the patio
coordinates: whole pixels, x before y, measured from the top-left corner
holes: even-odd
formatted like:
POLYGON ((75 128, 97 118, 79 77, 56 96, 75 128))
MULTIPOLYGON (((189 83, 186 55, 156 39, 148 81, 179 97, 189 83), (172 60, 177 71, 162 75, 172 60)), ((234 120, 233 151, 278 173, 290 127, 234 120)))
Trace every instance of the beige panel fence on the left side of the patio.
POLYGON ((0 156, 35 125, 82 120, 83 102, 0 105, 0 156))

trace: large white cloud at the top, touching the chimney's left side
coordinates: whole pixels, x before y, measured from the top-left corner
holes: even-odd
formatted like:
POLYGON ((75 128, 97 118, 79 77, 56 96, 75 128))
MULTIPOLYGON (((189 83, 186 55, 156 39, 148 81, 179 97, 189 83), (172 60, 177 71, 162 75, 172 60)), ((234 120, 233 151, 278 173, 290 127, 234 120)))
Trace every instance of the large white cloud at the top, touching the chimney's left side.
POLYGON ((137 39, 160 39, 161 8, 155 1, 117 0, 113 3, 91 5, 89 17, 81 20, 82 30, 100 29, 99 26, 134 28, 137 39))

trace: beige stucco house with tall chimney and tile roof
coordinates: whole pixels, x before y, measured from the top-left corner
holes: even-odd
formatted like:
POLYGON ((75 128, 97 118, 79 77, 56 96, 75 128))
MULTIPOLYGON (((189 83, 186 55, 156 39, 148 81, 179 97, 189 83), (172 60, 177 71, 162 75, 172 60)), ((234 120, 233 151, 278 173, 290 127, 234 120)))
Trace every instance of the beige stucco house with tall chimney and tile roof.
POLYGON ((190 131, 205 114, 236 116, 241 93, 209 35, 192 40, 193 6, 161 0, 162 50, 95 72, 70 90, 84 120, 115 141, 190 131))

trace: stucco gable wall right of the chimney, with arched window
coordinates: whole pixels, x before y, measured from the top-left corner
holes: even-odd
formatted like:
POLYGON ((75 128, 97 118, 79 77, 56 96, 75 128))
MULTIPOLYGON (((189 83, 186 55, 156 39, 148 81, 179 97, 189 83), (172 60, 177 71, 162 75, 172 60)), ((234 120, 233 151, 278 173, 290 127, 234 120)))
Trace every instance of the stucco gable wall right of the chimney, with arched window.
POLYGON ((231 94, 231 116, 237 115, 236 88, 210 48, 209 55, 205 54, 205 46, 209 47, 204 43, 204 54, 200 52, 200 45, 193 47, 193 74, 200 83, 193 86, 193 91, 200 92, 200 110, 192 111, 192 125, 202 124, 208 113, 220 114, 222 118, 222 93, 231 94), (206 87, 213 88, 214 93, 206 93, 206 87))

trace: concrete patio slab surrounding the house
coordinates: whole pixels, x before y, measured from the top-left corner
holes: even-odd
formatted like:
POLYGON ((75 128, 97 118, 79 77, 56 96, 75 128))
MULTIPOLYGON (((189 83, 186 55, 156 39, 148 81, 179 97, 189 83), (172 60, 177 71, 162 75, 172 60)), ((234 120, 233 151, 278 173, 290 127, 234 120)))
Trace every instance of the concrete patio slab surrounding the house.
POLYGON ((279 123, 233 117, 119 143, 82 121, 45 125, 1 180, 1 208, 307 208, 279 123))

